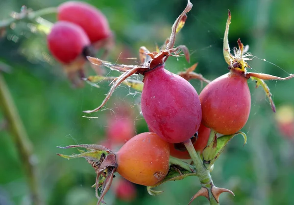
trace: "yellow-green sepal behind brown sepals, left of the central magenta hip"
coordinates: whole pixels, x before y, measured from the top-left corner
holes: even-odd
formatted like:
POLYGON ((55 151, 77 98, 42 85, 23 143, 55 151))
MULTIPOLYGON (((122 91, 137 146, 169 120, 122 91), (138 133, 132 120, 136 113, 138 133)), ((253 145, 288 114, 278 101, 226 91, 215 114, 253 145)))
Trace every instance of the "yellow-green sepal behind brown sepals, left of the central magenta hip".
MULTIPOLYGON (((84 80, 89 83, 90 85, 94 87, 98 87, 97 83, 103 82, 103 81, 111 81, 114 82, 117 79, 117 77, 106 77, 103 75, 94 75, 89 76, 88 78, 85 78, 84 80)), ((143 91, 144 83, 142 81, 134 80, 134 79, 125 79, 122 84, 129 86, 130 88, 136 90, 136 91, 143 91)))

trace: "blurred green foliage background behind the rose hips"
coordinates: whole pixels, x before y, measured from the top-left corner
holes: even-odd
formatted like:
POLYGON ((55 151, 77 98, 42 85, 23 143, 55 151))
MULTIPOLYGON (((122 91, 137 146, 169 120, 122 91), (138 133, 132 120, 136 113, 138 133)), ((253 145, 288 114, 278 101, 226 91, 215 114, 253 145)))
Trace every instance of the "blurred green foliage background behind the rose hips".
MULTIPOLYGON (((1 0, 0 20, 22 5, 38 10, 58 6, 63 0, 1 0)), ((171 26, 186 6, 186 0, 89 0, 108 18, 116 36, 116 46, 107 60, 137 64, 138 48, 154 50, 170 35, 171 26)), ((227 10, 232 13, 229 32, 231 49, 241 38, 256 56, 248 62, 253 72, 266 72, 286 77, 294 73, 294 1, 293 0, 192 0, 192 11, 177 36, 176 45, 186 45, 191 52, 191 65, 198 62, 196 72, 213 80, 226 73, 222 56, 222 41, 227 10), (264 61, 266 59, 267 61, 264 61), (277 65, 277 66, 275 66, 277 65)), ((56 16, 44 19, 55 22, 56 16)), ((60 150, 56 146, 98 143, 105 136, 106 115, 109 109, 83 117, 83 110, 97 107, 109 90, 108 83, 100 89, 85 85, 73 89, 60 65, 49 58, 46 35, 31 32, 27 22, 13 25, 0 39, 0 62, 11 67, 3 73, 13 95, 28 136, 34 145, 40 192, 47 205, 95 205, 95 172, 84 159, 66 160, 56 153, 71 154, 76 150, 60 150)), ((90 67, 90 66, 88 66, 90 67)), ((190 67, 183 58, 170 57, 166 68, 172 72, 190 67)), ((108 73, 108 70, 107 72, 108 73)), ((93 74, 91 68, 88 74, 93 74)), ((108 73, 118 75, 117 72, 108 73)), ((193 80, 198 93, 203 87, 193 80)), ((277 106, 294 106, 294 79, 268 83, 277 106)), ((222 194, 225 205, 292 205, 294 202, 293 139, 278 131, 274 113, 264 91, 249 82, 252 108, 243 128, 247 144, 241 136, 234 138, 215 163, 212 177, 215 184, 232 190, 235 197, 222 194)), ((126 86, 118 88, 107 104, 127 101, 136 113, 134 123, 138 133, 147 125, 140 115, 140 93, 126 86)), ((242 108, 241 108, 242 109, 242 108)), ((0 121, 4 118, 0 112, 0 121)), ((294 136, 293 136, 294 137, 294 136)), ((114 179, 115 180, 115 179, 114 179)), ((0 130, 0 205, 28 205, 29 189, 18 151, 12 137, 0 130)), ((137 186, 137 198, 132 205, 187 205, 199 189, 198 179, 168 182, 161 187, 164 193, 149 196, 146 187, 137 186)), ((110 191, 105 198, 108 205, 127 204, 115 199, 110 191)), ((208 204, 205 198, 193 205, 208 204)))

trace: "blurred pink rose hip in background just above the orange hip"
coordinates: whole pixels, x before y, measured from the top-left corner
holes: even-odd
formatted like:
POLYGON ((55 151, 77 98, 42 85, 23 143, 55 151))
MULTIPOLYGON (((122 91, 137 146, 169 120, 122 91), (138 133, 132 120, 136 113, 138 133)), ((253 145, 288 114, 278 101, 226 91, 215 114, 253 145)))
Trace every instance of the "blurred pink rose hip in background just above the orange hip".
POLYGON ((106 136, 112 143, 124 144, 135 135, 134 121, 126 116, 111 118, 107 124, 106 136))

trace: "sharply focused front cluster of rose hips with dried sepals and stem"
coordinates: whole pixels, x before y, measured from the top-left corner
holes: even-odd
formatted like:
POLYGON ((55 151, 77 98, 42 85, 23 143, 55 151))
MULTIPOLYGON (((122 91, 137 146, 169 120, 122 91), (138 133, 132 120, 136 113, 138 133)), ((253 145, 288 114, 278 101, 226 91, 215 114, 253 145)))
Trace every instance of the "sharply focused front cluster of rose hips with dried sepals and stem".
MULTIPOLYGON (((67 159, 86 158, 94 167, 97 173, 98 204, 110 188, 115 172, 130 182, 149 187, 196 175, 200 180, 201 189, 191 202, 198 196, 205 196, 211 204, 219 204, 222 192, 232 192, 216 187, 210 171, 223 147, 232 137, 241 133, 240 130, 248 119, 251 96, 247 80, 253 79, 257 86, 264 88, 272 110, 275 111, 270 90, 264 80, 286 80, 294 77, 290 75, 287 78, 279 78, 264 73, 247 72, 246 68, 250 67, 246 60, 250 60, 250 54, 245 52, 240 39, 239 49, 235 48, 234 55, 230 54, 229 12, 223 42, 223 54, 229 72, 209 82, 198 95, 188 81, 193 78, 204 79, 193 72, 195 66, 179 74, 165 69, 169 56, 184 55, 190 60, 188 48, 182 45, 174 47, 174 42, 176 34, 187 19, 186 14, 191 9, 192 3, 188 0, 187 7, 172 26, 170 38, 160 49, 150 52, 146 47, 140 48, 141 64, 138 66, 116 65, 88 57, 91 63, 118 70, 122 74, 112 79, 112 87, 101 105, 95 110, 84 112, 97 112, 120 84, 125 83, 133 87, 134 83, 129 81, 128 77, 141 74, 144 76, 143 83, 137 84, 143 87, 141 109, 150 131, 132 137, 117 152, 102 145, 63 147, 87 149, 87 152, 81 151, 78 155, 59 155, 67 159), (180 159, 192 159, 193 164, 180 159)), ((148 191, 155 193, 150 191, 150 188, 148 191)))

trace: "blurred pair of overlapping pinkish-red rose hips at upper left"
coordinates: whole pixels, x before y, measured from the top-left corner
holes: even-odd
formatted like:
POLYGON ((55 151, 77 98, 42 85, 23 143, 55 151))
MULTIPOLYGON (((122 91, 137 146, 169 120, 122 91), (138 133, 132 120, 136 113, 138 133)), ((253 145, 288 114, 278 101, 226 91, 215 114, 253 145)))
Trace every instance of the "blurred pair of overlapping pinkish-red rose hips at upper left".
POLYGON ((112 32, 106 17, 84 2, 62 3, 57 8, 57 20, 47 37, 48 48, 64 66, 69 79, 78 86, 76 77, 84 77, 86 56, 95 55, 101 47, 107 52, 112 45, 112 32))

